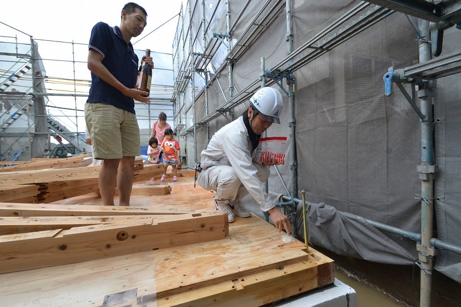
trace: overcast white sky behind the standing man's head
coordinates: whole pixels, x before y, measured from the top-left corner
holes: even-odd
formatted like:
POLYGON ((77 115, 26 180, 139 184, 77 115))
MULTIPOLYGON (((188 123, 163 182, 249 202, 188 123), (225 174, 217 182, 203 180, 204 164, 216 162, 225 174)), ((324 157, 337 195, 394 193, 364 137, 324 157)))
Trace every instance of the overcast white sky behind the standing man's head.
MULTIPOLYGON (((103 21, 120 25, 120 12, 127 0, 13 0, 1 2, 0 21, 36 39, 88 43, 93 26, 103 21)), ((180 12, 182 0, 135 1, 148 13, 147 26, 140 36, 132 38, 134 48, 172 53, 178 16, 152 34, 151 31, 180 12), (149 34, 137 42, 140 38, 149 34)), ((184 0, 184 6, 187 0, 184 0)), ((0 24, 0 35, 14 36, 17 31, 0 24)), ((18 34, 19 42, 28 36, 18 34)))

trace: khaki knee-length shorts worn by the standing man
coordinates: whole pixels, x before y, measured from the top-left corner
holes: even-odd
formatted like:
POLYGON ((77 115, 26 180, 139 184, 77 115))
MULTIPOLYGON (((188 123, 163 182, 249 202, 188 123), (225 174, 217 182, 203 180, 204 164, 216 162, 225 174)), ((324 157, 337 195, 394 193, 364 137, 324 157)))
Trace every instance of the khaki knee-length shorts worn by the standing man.
POLYGON ((85 121, 94 159, 121 159, 140 155, 136 115, 107 103, 85 103, 85 121))

